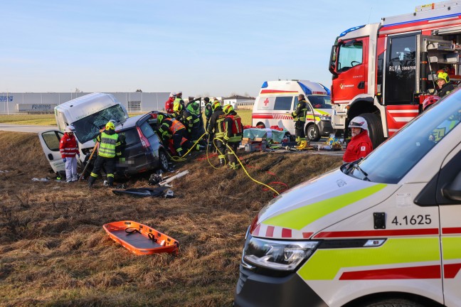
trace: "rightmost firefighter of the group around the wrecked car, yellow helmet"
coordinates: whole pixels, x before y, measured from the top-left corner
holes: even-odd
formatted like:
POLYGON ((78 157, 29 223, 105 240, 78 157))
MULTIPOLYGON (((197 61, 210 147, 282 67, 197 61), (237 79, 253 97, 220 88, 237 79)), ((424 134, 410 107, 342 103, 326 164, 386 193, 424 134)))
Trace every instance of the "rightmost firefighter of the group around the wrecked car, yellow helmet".
POLYGON ((226 151, 228 154, 229 166, 236 170, 240 167, 240 164, 234 154, 240 145, 240 141, 242 141, 242 119, 240 119, 237 112, 234 111, 230 104, 223 107, 223 112, 226 114, 226 119, 224 119, 223 122, 224 144, 227 144, 226 151))

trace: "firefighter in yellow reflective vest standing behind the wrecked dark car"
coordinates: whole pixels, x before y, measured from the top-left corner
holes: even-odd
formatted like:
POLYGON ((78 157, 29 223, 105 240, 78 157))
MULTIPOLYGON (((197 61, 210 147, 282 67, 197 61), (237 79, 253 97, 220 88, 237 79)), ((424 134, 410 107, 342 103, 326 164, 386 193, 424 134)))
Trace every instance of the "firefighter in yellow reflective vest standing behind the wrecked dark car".
POLYGON ((95 183, 102 166, 104 166, 107 174, 107 185, 114 186, 115 157, 122 156, 122 152, 120 151, 120 139, 118 134, 115 133, 113 122, 106 124, 105 130, 97 136, 96 141, 100 144, 99 151, 97 151, 95 166, 88 179, 88 186, 91 188, 95 183))

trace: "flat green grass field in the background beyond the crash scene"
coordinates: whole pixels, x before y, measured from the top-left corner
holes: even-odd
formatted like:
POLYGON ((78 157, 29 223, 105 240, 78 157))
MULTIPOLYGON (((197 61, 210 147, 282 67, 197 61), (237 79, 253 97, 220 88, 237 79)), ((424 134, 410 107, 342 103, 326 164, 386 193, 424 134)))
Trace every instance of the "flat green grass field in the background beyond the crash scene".
MULTIPOLYGON (((242 118, 243 125, 251 124, 252 110, 243 109, 238 111, 242 118)), ((142 113, 129 114, 129 117, 142 113)), ((11 114, 0 115, 0 123, 22 124, 22 125, 39 125, 39 126, 56 126, 54 114, 11 114)))

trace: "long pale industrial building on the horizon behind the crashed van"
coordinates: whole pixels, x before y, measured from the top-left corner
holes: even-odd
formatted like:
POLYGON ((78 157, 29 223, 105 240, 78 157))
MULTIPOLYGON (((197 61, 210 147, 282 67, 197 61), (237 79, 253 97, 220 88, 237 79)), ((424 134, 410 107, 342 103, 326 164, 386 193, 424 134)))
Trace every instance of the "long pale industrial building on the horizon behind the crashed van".
MULTIPOLYGON (((0 114, 53 113, 54 107, 89 92, 63 93, 0 93, 0 114)), ((169 92, 109 92, 127 108, 129 113, 160 111, 168 100, 169 92)))

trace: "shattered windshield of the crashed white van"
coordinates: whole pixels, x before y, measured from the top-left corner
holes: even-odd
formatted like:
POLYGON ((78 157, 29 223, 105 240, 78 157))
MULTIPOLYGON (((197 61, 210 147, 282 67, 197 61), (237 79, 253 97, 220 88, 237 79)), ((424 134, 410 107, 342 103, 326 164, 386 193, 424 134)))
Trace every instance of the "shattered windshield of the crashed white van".
POLYGON ((79 119, 77 122, 73 122, 73 126, 75 127, 75 136, 77 136, 80 143, 85 143, 86 141, 95 139, 97 134, 100 133, 100 129, 104 128, 105 124, 107 124, 110 119, 113 119, 115 123, 124 121, 125 114, 120 104, 103 109, 102 111, 91 114, 83 119, 79 119))

